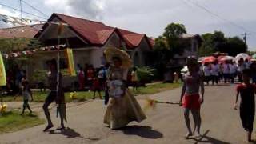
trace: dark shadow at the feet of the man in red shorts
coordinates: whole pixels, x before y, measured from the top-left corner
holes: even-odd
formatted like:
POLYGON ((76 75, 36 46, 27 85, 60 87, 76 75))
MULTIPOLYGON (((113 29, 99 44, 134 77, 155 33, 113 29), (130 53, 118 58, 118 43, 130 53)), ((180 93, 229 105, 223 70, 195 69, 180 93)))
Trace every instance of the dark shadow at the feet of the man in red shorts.
POLYGON ((198 143, 213 143, 213 144, 230 144, 230 142, 223 142, 221 140, 215 139, 215 138, 211 138, 209 136, 207 136, 207 134, 210 132, 210 130, 206 130, 205 134, 202 134, 202 137, 197 139, 197 138, 192 138, 195 142, 194 144, 198 144, 198 143), (204 140, 206 139, 206 140, 204 140))

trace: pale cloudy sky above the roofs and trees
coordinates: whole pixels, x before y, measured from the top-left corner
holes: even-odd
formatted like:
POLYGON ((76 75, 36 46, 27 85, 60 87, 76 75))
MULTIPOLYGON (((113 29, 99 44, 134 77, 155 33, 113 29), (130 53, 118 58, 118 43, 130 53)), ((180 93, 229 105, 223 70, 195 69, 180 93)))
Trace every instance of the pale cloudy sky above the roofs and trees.
MULTIPOLYGON (((256 0, 24 0, 48 16, 57 12, 101 21, 110 26, 158 37, 170 22, 180 22, 188 33, 222 30, 226 36, 247 32, 250 50, 256 50, 256 0), (206 12, 208 10, 208 12, 206 12), (210 14, 211 13, 211 14, 210 14)), ((0 3, 19 9, 18 0, 0 3)), ((44 16, 23 4, 23 10, 44 16)), ((0 6, 0 14, 19 16, 0 6)), ((24 14, 26 18, 35 18, 24 14)), ((38 18, 40 19, 40 18, 38 18)))

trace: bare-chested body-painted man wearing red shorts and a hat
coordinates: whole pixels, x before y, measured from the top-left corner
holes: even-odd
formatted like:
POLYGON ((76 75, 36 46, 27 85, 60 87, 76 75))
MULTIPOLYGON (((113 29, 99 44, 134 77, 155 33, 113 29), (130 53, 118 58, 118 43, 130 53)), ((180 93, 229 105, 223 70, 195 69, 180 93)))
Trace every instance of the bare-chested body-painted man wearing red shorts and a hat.
POLYGON ((184 107, 184 118, 188 134, 186 138, 191 136, 200 137, 201 115, 200 107, 204 98, 204 84, 202 75, 198 72, 198 62, 194 57, 188 57, 186 60, 189 71, 184 76, 182 94, 180 104, 184 107), (199 90, 201 88, 201 96, 199 90), (194 119, 194 130, 190 126, 190 111, 194 119))

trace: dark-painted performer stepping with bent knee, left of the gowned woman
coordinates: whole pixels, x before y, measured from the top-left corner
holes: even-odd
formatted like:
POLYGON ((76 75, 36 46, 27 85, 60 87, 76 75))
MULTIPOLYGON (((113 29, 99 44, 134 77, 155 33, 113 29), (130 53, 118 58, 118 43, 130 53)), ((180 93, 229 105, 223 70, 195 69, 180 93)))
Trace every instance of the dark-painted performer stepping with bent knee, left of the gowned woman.
POLYGON ((49 130, 54 126, 53 123, 51 122, 50 112, 48 110, 48 106, 50 106, 50 104, 54 101, 58 105, 57 110, 61 119, 61 126, 58 128, 58 130, 62 130, 65 128, 64 119, 66 120, 65 97, 64 97, 64 92, 62 90, 62 74, 58 73, 57 62, 55 59, 52 59, 49 62, 49 67, 50 67, 50 72, 48 74, 48 82, 49 82, 50 94, 48 94, 48 96, 46 97, 46 101, 42 106, 48 122, 48 125, 46 126, 44 131, 49 130))

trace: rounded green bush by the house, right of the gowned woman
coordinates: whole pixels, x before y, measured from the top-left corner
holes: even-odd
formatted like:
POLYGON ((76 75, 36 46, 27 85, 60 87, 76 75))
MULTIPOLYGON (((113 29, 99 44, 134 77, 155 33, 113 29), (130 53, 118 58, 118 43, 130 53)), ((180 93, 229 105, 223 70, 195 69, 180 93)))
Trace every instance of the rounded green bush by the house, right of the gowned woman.
POLYGON ((138 81, 140 82, 151 82, 154 79, 154 75, 156 73, 155 69, 150 67, 138 67, 137 74, 138 74, 138 81))

